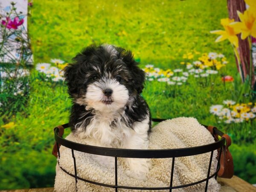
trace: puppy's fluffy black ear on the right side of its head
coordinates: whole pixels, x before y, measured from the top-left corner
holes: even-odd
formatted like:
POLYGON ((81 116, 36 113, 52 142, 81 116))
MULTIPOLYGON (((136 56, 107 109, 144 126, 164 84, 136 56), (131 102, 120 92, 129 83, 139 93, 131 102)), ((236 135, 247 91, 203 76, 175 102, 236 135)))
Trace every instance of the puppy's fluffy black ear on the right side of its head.
POLYGON ((131 74, 133 76, 132 82, 135 89, 139 94, 142 93, 142 90, 144 88, 145 72, 137 66, 139 63, 134 60, 131 51, 124 51, 121 53, 121 55, 122 60, 131 71, 131 74))

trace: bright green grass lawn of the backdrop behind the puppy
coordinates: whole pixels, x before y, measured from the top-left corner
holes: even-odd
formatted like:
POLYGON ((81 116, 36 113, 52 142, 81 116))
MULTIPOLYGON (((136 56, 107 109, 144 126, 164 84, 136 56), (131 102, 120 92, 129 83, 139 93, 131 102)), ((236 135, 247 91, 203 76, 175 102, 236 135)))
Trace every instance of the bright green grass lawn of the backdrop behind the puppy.
MULTIPOLYGON (((181 68, 183 54, 188 52, 224 54, 229 64, 221 73, 234 76, 235 83, 224 87, 220 75, 206 86, 200 79, 189 77, 189 83, 175 89, 163 82, 146 81, 143 97, 153 117, 194 116, 203 124, 214 124, 233 134, 230 150, 235 173, 256 183, 255 139, 241 139, 242 127, 233 130, 224 123, 217 124, 209 113, 211 105, 236 100, 242 87, 229 42, 216 44, 216 36, 209 33, 220 29, 224 17, 228 13, 223 0, 34 0, 28 29, 35 64, 51 58, 70 62, 92 43, 131 49, 141 67, 154 64, 162 69, 181 68)), ((63 82, 47 81, 35 70, 31 71, 29 86, 26 108, 0 118, 0 126, 12 122, 0 132, 0 189, 54 184, 52 128, 68 121, 71 101, 63 82)), ((243 97, 240 102, 249 100, 243 97)), ((256 131, 251 129, 249 136, 253 137, 256 131)))

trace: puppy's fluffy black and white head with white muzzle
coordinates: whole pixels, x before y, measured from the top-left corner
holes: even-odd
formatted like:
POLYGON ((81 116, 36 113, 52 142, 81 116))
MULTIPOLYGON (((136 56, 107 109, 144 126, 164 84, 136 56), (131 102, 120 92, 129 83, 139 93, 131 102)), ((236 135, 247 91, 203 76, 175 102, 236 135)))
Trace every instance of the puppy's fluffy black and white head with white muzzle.
POLYGON ((108 112, 131 104, 143 89, 145 74, 131 52, 111 45, 87 47, 64 74, 74 102, 108 112))

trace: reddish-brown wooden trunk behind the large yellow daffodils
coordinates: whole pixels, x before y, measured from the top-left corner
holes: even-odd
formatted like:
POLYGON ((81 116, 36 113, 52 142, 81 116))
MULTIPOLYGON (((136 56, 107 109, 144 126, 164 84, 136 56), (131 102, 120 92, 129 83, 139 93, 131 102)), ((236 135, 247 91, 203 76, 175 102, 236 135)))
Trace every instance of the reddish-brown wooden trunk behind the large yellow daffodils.
MULTIPOLYGON (((240 21, 236 11, 243 13, 246 10, 244 0, 227 0, 227 7, 228 7, 230 19, 235 19, 235 21, 240 21)), ((251 87, 253 88, 253 85, 255 83, 255 76, 254 76, 253 65, 250 67, 250 59, 251 59, 250 45, 247 38, 244 40, 241 40, 240 34, 238 35, 238 39, 239 39, 239 47, 237 49, 238 49, 240 60, 241 60, 241 68, 242 68, 242 75, 243 75, 242 81, 244 82, 245 77, 247 75, 250 75, 250 68, 251 68, 251 77, 252 77, 251 87)), ((238 67, 238 70, 239 70, 238 65, 239 63, 236 60, 236 66, 238 67)))

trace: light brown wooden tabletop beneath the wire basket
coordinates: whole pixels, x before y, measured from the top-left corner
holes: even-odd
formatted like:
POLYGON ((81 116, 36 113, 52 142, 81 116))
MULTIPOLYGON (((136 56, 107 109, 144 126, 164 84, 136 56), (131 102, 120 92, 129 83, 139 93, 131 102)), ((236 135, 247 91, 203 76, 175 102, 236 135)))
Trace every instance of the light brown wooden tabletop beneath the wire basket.
MULTIPOLYGON (((220 192, 256 192, 256 187, 233 176, 231 179, 217 178, 221 183, 220 192)), ((16 190, 4 190, 0 192, 53 192, 53 188, 38 188, 38 189, 16 189, 16 190)))

